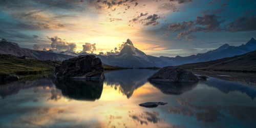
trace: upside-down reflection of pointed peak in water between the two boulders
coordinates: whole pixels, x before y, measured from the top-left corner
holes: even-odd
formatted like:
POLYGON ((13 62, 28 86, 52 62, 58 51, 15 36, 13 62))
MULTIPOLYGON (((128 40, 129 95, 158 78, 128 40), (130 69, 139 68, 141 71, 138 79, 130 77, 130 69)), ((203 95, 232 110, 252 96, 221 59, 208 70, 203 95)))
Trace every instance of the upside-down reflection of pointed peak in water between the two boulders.
POLYGON ((105 73, 106 85, 119 88, 119 90, 130 98, 137 88, 147 82, 147 78, 157 70, 149 69, 125 69, 105 73), (119 86, 120 85, 120 86, 119 86))

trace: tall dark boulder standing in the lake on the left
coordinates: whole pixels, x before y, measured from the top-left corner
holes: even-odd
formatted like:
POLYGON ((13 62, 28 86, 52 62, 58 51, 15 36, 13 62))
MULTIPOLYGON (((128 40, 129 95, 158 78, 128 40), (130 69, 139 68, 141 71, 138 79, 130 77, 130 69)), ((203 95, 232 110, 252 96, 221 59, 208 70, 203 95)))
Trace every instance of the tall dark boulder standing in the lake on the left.
POLYGON ((84 55, 65 60, 53 72, 54 78, 103 80, 101 60, 94 55, 84 55))

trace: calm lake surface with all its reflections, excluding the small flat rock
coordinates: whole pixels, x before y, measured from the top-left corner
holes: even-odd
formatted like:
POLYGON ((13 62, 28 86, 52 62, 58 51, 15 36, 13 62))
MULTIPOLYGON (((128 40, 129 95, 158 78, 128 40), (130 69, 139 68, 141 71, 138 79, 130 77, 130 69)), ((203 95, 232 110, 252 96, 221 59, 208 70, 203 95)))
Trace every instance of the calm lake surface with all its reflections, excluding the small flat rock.
POLYGON ((104 82, 41 79, 0 86, 0 127, 256 127, 256 89, 209 78, 152 84, 155 70, 105 73, 104 82), (165 106, 144 108, 148 101, 165 106))

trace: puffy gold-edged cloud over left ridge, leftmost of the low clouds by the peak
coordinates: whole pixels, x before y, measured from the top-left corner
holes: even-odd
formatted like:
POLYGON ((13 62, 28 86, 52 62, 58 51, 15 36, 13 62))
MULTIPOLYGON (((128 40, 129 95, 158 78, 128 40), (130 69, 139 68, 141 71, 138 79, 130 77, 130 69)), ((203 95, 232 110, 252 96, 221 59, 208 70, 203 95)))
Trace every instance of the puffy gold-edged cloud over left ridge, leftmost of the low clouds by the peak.
POLYGON ((76 49, 76 44, 75 43, 69 43, 66 40, 62 40, 61 38, 55 36, 55 37, 47 37, 52 43, 51 47, 59 50, 59 51, 70 51, 74 52, 76 49))

